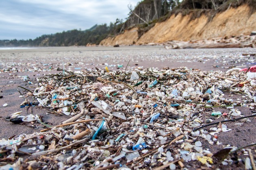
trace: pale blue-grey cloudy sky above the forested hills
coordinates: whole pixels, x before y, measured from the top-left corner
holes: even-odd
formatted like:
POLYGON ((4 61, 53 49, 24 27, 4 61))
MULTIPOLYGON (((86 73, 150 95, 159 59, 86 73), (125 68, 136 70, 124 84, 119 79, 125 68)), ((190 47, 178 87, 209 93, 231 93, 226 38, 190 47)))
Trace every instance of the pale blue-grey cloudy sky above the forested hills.
POLYGON ((128 17, 140 0, 0 0, 0 40, 86 30, 128 17))

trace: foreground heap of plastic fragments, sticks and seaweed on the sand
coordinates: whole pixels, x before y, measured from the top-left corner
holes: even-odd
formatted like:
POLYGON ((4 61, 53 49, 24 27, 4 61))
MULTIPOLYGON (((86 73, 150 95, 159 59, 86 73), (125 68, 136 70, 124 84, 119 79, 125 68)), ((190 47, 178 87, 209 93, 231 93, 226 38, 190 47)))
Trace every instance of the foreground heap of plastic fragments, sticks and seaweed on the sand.
MULTIPOLYGON (((38 115, 13 113, 11 119, 39 122, 37 128, 43 129, 1 139, 4 168, 173 170, 189 169, 191 161, 197 161, 198 168, 213 168, 218 155, 206 146, 221 145, 229 149, 227 153, 237 149, 218 141, 218 134, 232 131, 225 122, 234 121, 239 127, 256 116, 256 79, 237 70, 97 68, 63 70, 37 81, 33 101, 26 99, 20 107, 46 108, 69 118, 51 126, 38 115), (241 99, 230 99, 233 94, 241 99), (253 113, 244 116, 238 106, 253 113), (22 154, 30 158, 23 159, 22 154)), ((223 166, 234 163, 228 155, 222 158, 223 166)), ((242 164, 241 157, 237 161, 242 164)), ((245 162, 247 167, 254 164, 249 156, 245 162)))

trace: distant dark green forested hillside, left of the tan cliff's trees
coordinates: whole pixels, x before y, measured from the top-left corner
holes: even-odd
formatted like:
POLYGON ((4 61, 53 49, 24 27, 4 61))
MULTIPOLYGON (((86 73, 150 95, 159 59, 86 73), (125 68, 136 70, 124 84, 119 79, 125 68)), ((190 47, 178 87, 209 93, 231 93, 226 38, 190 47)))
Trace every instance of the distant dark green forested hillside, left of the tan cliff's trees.
POLYGON ((72 46, 72 45, 87 45, 99 44, 106 36, 113 36, 121 31, 123 21, 117 19, 115 23, 95 25, 89 30, 70 30, 61 33, 42 35, 34 40, 0 40, 2 47, 17 47, 17 46, 72 46))

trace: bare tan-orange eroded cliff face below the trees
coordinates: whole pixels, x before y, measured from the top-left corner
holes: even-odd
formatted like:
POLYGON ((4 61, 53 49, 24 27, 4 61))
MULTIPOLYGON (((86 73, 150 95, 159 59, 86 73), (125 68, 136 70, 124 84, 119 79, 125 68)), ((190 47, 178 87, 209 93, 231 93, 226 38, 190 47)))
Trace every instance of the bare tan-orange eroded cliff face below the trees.
POLYGON ((130 45, 146 43, 164 43, 170 40, 198 40, 223 36, 238 36, 240 34, 249 35, 256 31, 256 12, 250 14, 247 5, 238 8, 230 8, 213 17, 208 21, 208 16, 202 14, 201 17, 191 20, 191 15, 177 16, 171 15, 164 22, 156 23, 148 32, 138 37, 137 28, 127 30, 114 38, 102 40, 100 45, 130 45))

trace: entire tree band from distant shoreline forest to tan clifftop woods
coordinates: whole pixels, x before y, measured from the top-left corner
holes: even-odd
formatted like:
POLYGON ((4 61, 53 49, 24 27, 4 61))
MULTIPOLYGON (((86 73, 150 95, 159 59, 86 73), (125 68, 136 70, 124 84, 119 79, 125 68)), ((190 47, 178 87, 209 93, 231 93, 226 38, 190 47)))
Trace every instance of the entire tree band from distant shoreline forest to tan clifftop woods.
POLYGON ((248 4, 251 13, 256 10, 256 0, 142 0, 130 9, 129 17, 125 22, 116 19, 115 23, 109 25, 95 25, 88 30, 70 30, 56 34, 42 35, 34 40, 0 40, 0 46, 72 46, 96 44, 107 37, 113 37, 125 29, 139 27, 139 37, 150 30, 157 22, 163 22, 172 14, 182 13, 187 15, 192 13, 191 20, 208 14, 209 21, 216 13, 225 11, 230 7, 238 7, 248 4))

